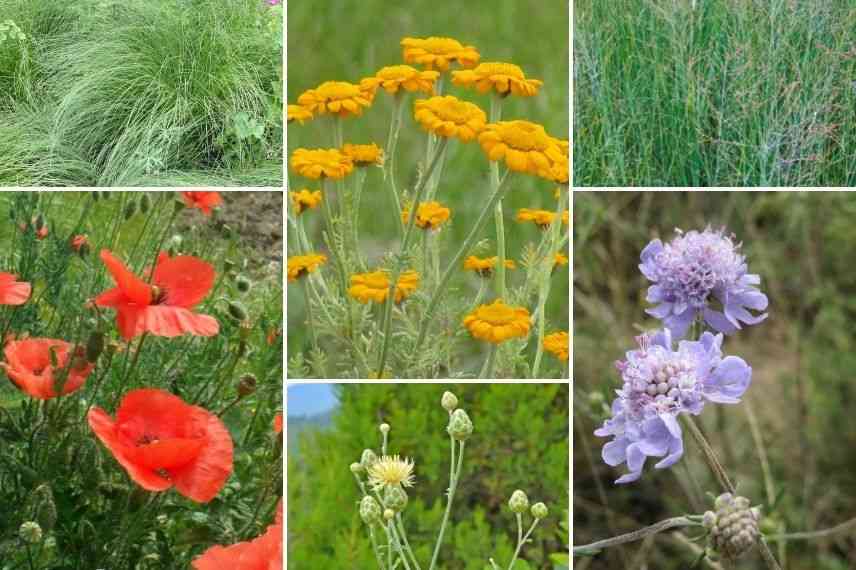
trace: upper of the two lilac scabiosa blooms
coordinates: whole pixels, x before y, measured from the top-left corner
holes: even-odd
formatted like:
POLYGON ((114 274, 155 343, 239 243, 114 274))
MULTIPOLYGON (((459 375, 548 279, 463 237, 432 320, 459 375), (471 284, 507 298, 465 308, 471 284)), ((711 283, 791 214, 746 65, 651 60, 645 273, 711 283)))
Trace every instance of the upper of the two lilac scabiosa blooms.
POLYGON ((755 287, 761 278, 747 273, 741 244, 723 230, 676 231, 671 242, 655 239, 642 250, 639 269, 653 283, 648 302, 657 303, 649 315, 662 320, 675 338, 683 338, 696 317, 725 334, 767 318, 750 312, 766 309, 767 296, 755 287))

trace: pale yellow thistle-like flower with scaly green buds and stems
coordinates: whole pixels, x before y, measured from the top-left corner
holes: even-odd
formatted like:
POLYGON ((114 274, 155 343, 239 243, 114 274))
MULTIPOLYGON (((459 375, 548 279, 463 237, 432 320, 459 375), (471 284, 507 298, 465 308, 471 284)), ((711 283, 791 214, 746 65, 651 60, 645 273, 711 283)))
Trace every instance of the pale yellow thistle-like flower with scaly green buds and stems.
MULTIPOLYGON (((407 536, 404 515, 407 511, 408 491, 417 492, 419 481, 416 475, 416 462, 411 458, 400 455, 390 455, 389 434, 391 427, 383 423, 379 426, 381 433, 381 456, 371 449, 363 451, 359 462, 351 464, 351 473, 357 482, 362 498, 357 502, 357 511, 366 525, 368 538, 375 555, 379 570, 405 568, 407 570, 434 570, 441 568, 440 559, 446 527, 452 513, 452 503, 461 482, 466 442, 475 431, 472 420, 465 410, 458 407, 458 398, 451 392, 443 393, 440 405, 449 414, 446 433, 449 436, 450 466, 449 486, 446 492, 446 509, 430 558, 420 560, 414 553, 416 546, 411 546, 407 536), (420 564, 421 562, 421 564, 420 564)), ((544 503, 529 506, 529 499, 521 490, 511 494, 508 510, 517 521, 517 543, 514 553, 507 566, 498 564, 493 558, 488 558, 491 570, 515 568, 523 547, 531 542, 530 537, 538 523, 547 518, 549 511, 544 503), (528 528, 524 533, 524 519, 528 528), (531 519, 531 524, 529 523, 531 519)), ((415 543, 414 543, 415 544, 415 543)))

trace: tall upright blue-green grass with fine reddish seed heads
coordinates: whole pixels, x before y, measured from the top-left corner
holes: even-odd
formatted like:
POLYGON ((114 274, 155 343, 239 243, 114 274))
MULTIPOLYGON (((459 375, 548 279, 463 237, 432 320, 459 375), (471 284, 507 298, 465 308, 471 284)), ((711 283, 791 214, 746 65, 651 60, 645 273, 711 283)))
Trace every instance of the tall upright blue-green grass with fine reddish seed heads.
POLYGON ((856 185, 852 1, 577 0, 574 19, 577 186, 856 185))

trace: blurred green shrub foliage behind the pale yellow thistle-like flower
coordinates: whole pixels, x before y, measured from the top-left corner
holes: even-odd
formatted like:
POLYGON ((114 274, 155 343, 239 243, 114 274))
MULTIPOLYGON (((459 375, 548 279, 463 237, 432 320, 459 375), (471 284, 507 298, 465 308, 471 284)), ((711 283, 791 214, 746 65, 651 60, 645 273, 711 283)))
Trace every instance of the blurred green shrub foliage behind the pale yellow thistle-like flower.
POLYGON ((290 441, 289 568, 376 567, 348 466, 365 448, 379 452, 382 422, 392 428, 390 452, 416 463, 404 521, 411 546, 427 567, 448 487, 448 414, 440 407, 445 390, 458 396, 475 431, 467 440, 440 568, 484 570, 489 557, 508 565, 517 529, 507 502, 518 488, 530 502, 543 501, 550 514, 523 548, 528 564, 515 569, 566 568, 550 561, 551 554, 567 554, 568 544, 562 523, 568 517, 566 385, 342 384, 337 390, 340 406, 332 425, 306 429, 290 441))

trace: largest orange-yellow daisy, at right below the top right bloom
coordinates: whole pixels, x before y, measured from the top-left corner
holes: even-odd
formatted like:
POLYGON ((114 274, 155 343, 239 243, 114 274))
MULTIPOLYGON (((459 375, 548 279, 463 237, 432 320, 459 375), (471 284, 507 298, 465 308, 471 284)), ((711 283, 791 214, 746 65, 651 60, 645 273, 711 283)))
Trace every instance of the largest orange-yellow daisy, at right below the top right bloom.
POLYGON ((542 178, 550 178, 553 165, 563 160, 558 139, 529 121, 491 123, 479 134, 479 144, 488 159, 505 159, 510 170, 542 178))

